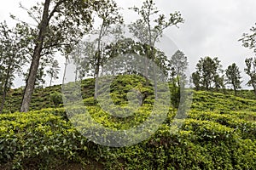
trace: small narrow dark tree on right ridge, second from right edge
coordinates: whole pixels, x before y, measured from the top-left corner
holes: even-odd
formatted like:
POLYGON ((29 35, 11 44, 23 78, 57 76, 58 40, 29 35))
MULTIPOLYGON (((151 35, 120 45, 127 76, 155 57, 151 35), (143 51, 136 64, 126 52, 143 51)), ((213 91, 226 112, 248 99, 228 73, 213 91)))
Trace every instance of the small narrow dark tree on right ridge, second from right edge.
POLYGON ((227 83, 233 86, 235 95, 237 95, 237 89, 241 88, 241 71, 239 71, 236 63, 229 65, 226 70, 227 83))

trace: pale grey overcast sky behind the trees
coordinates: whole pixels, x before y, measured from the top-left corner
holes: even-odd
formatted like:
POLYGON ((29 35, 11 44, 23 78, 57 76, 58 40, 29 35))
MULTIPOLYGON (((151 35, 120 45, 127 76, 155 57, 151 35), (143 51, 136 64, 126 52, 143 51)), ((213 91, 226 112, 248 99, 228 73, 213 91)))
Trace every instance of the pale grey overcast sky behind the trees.
MULTIPOLYGON (((9 13, 26 20, 26 13, 19 8, 19 2, 30 7, 34 0, 8 0, 0 6, 0 21, 7 20, 10 25, 9 13)), ((123 14, 126 24, 137 19, 128 7, 141 6, 141 0, 117 0, 124 8, 123 14)), ((243 73, 244 60, 254 56, 252 50, 243 48, 238 39, 242 33, 248 32, 256 22, 255 0, 155 0, 160 13, 170 14, 180 11, 185 20, 179 28, 172 27, 165 31, 165 36, 181 49, 189 59, 190 71, 195 71, 195 65, 201 57, 218 57, 224 69, 233 62, 239 65, 242 77, 247 82, 247 75, 243 73)), ((167 44, 168 45, 168 44, 167 44)), ((64 65, 63 61, 60 63, 64 65)), ((62 74, 62 72, 61 72, 62 74)), ((60 83, 55 81, 55 83, 60 83)), ((15 87, 20 81, 15 81, 15 87)))

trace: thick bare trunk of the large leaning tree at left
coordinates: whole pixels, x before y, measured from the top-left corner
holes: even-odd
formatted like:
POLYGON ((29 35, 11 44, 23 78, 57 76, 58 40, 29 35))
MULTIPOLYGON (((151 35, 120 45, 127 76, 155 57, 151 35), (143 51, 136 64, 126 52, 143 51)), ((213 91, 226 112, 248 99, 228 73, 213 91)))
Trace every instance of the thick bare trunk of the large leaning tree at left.
POLYGON ((26 80, 26 88, 23 94, 22 104, 20 108, 20 112, 29 111, 29 105, 32 99, 32 93, 34 90, 34 85, 36 82, 36 76, 38 71, 38 65, 41 57, 41 52, 44 43, 45 33, 47 31, 47 26, 49 25, 49 2, 50 0, 45 0, 44 2, 44 14, 42 21, 39 26, 39 34, 38 41, 36 42, 36 46, 34 48, 34 52, 32 54, 32 64, 30 66, 28 78, 26 80))

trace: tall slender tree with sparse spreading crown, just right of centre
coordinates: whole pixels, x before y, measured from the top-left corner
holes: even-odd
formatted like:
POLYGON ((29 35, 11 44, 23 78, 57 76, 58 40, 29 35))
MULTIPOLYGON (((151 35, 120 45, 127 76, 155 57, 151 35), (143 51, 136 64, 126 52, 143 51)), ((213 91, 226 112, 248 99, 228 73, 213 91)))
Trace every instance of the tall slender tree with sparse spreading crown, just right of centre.
MULTIPOLYGON (((169 14, 168 17, 164 14, 159 14, 160 11, 153 0, 144 1, 143 6, 140 8, 132 7, 130 9, 139 14, 139 19, 132 22, 129 26, 130 31, 134 37, 137 37, 139 42, 148 44, 146 57, 155 61, 153 50, 155 48, 155 43, 160 40, 160 37, 162 37, 166 28, 177 26, 178 24, 183 23, 184 20, 179 12, 169 14)), ((147 59, 145 59, 145 75, 148 77, 147 59)), ((154 88, 156 95, 156 80, 154 80, 154 88)))

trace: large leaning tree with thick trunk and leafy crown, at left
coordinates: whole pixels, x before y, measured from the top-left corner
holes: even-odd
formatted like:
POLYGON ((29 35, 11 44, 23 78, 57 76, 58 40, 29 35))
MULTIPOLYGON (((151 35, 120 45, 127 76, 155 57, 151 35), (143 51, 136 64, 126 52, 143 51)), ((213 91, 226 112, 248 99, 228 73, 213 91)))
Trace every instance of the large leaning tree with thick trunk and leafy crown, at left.
MULTIPOLYGON (((20 111, 29 110, 32 93, 36 82, 40 59, 44 54, 54 54, 68 44, 76 43, 85 31, 90 29, 91 11, 94 4, 100 1, 84 0, 44 0, 30 9, 28 14, 37 26, 34 34, 25 35, 32 39, 32 60, 20 111)), ((29 28, 26 28, 29 29, 29 28)), ((20 32, 23 34, 23 32, 20 32)))

